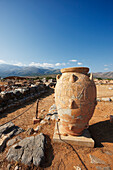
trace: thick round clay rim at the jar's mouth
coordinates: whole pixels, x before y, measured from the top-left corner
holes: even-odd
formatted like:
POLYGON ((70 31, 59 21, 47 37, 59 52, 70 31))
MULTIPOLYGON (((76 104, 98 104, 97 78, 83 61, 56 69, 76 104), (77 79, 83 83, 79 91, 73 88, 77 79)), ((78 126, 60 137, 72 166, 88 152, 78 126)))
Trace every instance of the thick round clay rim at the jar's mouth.
POLYGON ((78 73, 87 74, 89 72, 89 68, 88 67, 69 67, 69 68, 63 68, 60 71, 61 73, 78 72, 78 73))

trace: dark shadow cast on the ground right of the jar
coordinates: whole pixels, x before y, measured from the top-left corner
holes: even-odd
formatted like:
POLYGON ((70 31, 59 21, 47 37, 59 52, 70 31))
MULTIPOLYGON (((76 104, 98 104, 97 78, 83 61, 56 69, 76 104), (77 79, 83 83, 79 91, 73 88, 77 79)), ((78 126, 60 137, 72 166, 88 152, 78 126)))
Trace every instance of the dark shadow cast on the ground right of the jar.
POLYGON ((101 121, 89 126, 95 147, 102 147, 103 142, 113 143, 113 124, 109 120, 101 121))

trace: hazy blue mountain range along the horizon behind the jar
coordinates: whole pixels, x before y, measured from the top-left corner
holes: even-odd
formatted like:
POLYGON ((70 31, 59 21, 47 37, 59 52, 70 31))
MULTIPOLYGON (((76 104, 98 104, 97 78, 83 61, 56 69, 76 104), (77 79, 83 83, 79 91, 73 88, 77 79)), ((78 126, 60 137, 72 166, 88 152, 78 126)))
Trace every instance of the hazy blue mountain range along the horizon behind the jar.
MULTIPOLYGON (((0 77, 8 76, 40 76, 49 74, 59 74, 60 69, 43 68, 35 66, 15 66, 9 64, 0 64, 0 77)), ((95 78, 113 79, 113 71, 93 73, 95 78)))

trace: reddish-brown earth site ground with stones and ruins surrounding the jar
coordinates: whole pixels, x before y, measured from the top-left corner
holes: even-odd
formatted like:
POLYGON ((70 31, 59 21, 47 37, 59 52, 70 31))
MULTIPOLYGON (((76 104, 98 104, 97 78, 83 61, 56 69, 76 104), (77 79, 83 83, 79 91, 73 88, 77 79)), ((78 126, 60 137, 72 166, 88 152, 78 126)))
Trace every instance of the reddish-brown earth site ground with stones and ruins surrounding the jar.
POLYGON ((86 147, 53 141, 55 82, 1 82, 0 170, 112 170, 113 80, 95 79, 95 84, 97 105, 88 127, 95 144, 86 147), (34 124, 37 99, 40 122, 34 124))

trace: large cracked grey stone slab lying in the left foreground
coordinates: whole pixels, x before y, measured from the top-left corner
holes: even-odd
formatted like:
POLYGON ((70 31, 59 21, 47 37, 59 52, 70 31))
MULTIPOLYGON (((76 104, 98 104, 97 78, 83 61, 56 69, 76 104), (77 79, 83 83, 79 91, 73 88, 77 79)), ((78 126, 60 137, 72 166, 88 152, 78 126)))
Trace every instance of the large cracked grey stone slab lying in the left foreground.
POLYGON ((39 166, 44 161, 45 136, 41 133, 30 136, 13 145, 8 153, 8 161, 21 161, 25 165, 39 166))

